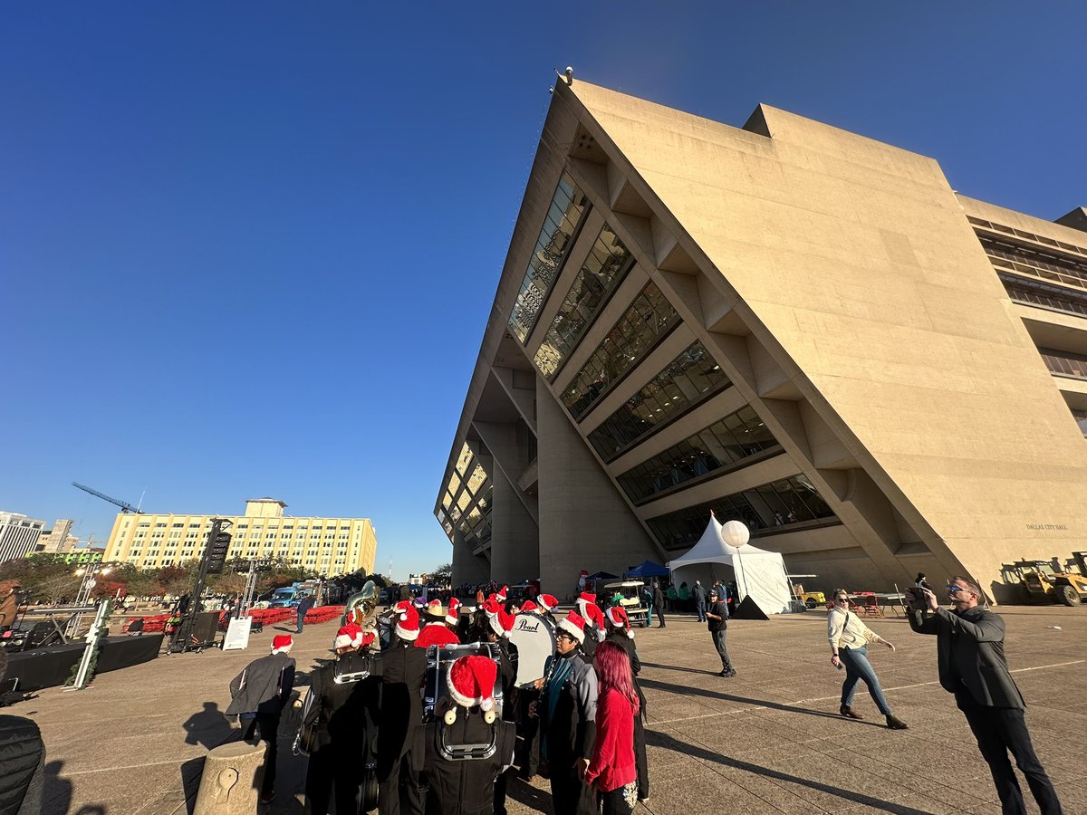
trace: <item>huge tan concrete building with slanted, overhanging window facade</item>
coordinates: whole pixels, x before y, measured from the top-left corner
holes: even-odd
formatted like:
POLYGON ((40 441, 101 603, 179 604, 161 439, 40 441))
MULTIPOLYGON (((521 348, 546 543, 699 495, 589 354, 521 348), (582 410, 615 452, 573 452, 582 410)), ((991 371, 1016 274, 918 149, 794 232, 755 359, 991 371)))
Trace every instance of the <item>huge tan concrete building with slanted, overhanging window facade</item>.
POLYGON ((559 82, 435 505, 453 580, 564 594, 711 511, 824 588, 999 597, 1087 549, 1085 229, 766 105, 559 82))

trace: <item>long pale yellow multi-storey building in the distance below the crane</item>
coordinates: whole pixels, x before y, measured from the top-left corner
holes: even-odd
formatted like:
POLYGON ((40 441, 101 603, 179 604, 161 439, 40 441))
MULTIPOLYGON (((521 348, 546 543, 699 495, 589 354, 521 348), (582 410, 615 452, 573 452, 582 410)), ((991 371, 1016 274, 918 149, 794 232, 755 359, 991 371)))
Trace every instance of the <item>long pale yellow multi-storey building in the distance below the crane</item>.
POLYGON ((274 498, 246 501, 245 515, 134 515, 118 513, 105 547, 107 562, 140 568, 200 557, 214 517, 226 518, 233 535, 227 557, 283 557, 335 577, 374 570, 377 538, 370 518, 315 518, 284 515, 274 498))

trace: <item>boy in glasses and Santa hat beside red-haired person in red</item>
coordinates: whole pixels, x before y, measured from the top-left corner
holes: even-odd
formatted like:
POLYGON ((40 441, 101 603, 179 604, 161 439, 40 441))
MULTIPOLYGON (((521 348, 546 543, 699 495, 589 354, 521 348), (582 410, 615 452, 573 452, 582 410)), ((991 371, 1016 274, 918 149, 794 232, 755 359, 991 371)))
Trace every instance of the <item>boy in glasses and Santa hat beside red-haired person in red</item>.
POLYGON ((562 815, 597 812, 596 792, 583 783, 597 718, 597 675, 580 649, 585 639, 585 618, 570 612, 555 631, 555 653, 545 665, 534 709, 540 718, 540 758, 551 775, 552 808, 562 815))

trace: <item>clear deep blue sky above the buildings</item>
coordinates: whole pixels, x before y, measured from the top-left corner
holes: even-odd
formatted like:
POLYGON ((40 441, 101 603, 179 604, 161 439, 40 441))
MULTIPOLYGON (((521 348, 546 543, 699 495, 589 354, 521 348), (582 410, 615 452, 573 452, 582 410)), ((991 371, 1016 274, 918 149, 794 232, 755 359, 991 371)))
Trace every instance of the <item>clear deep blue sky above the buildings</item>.
POLYGON ((50 2, 0 25, 0 509, 430 514, 552 68, 759 102, 1045 218, 1087 199, 1083 3, 50 2), (139 383, 139 388, 133 388, 139 383))

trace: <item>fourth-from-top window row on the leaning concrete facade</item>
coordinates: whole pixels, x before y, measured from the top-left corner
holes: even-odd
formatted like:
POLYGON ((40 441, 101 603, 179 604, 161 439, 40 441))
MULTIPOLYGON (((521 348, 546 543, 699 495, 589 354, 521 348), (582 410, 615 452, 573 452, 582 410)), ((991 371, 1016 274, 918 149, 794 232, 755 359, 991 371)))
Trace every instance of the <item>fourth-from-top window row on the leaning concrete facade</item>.
POLYGON ((589 434, 600 457, 612 461, 665 422, 732 383, 701 342, 670 362, 589 434))

